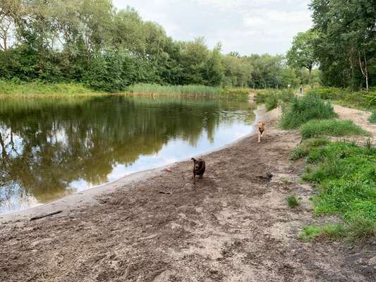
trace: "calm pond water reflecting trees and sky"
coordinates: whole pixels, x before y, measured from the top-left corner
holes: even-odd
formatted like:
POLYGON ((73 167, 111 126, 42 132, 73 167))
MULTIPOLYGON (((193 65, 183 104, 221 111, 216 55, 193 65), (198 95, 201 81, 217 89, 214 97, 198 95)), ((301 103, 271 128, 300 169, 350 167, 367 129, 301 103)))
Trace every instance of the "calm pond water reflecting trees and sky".
POLYGON ((0 100, 0 214, 222 147, 248 102, 166 97, 0 100))

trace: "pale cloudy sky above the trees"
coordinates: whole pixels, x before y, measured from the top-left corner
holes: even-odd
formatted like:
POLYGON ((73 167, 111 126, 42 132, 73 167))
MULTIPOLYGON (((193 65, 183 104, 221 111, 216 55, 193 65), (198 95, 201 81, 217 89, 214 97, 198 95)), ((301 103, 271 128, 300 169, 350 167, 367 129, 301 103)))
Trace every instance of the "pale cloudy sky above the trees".
POLYGON ((309 0, 113 0, 159 23, 176 40, 205 37, 224 54, 284 54, 298 32, 311 25, 309 0))

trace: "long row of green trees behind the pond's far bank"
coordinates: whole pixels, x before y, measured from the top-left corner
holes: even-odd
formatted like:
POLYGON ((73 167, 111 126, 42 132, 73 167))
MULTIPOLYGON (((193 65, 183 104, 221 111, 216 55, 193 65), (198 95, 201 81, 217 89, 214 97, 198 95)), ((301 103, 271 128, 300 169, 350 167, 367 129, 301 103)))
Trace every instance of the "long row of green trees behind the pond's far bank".
POLYGON ((308 82, 308 71, 289 68, 283 56, 224 55, 202 37, 175 41, 111 0, 2 0, 0 79, 110 92, 135 83, 277 88, 308 82))

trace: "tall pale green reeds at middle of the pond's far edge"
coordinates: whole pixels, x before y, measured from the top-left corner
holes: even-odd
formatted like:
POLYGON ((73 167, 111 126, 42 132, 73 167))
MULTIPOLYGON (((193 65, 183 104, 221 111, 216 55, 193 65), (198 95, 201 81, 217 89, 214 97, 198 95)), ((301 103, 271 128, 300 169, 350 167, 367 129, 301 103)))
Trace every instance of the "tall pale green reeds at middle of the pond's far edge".
POLYGON ((219 95, 223 90, 220 87, 204 85, 156 85, 136 84, 127 88, 135 94, 186 94, 186 95, 219 95))

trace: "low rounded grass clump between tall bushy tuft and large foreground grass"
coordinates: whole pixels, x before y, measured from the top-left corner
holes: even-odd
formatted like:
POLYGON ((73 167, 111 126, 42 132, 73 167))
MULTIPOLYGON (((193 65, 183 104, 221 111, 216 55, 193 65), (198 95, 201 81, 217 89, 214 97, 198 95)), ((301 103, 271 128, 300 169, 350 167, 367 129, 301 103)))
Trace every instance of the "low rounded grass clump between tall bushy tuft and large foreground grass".
POLYGON ((360 128, 353 121, 339 121, 336 119, 313 120, 301 125, 301 137, 303 139, 320 136, 351 136, 351 135, 370 135, 367 131, 360 128))

